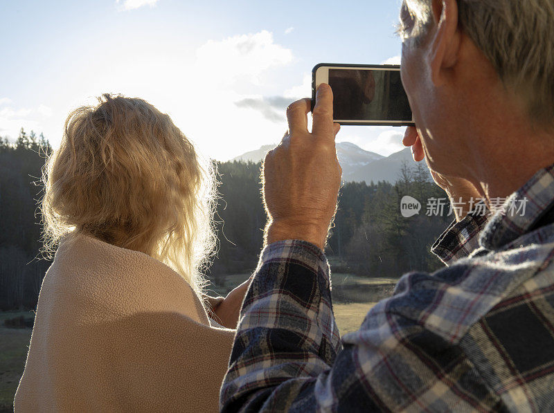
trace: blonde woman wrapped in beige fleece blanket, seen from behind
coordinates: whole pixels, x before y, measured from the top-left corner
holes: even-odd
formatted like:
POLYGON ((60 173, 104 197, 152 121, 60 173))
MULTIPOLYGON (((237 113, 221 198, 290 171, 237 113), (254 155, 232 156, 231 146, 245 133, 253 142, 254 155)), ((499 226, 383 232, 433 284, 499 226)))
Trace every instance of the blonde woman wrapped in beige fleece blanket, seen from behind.
POLYGON ((48 160, 39 294, 15 411, 217 411, 248 283, 204 294, 213 174, 144 100, 73 111, 48 160))

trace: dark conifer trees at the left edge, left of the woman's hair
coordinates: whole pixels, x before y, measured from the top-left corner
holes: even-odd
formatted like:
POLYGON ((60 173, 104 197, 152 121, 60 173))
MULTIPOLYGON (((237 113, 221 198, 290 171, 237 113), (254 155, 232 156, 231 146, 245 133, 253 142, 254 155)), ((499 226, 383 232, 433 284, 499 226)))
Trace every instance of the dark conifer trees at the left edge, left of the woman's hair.
POLYGON ((51 262, 38 259, 41 168, 50 143, 21 129, 15 144, 0 138, 0 310, 35 309, 51 262))

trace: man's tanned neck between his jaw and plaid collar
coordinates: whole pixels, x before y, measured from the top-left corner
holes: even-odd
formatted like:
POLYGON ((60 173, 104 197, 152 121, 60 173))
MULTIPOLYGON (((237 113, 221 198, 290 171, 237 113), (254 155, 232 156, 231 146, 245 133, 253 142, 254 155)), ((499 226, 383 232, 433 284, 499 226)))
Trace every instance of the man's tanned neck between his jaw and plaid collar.
MULTIPOLYGON (((524 102, 495 73, 465 94, 465 167, 489 208, 554 163, 554 127, 539 127, 524 102), (492 202, 494 200, 494 202, 492 202)), ((471 82, 470 82, 471 83, 471 82)), ((465 85, 466 87, 467 84, 465 85)))

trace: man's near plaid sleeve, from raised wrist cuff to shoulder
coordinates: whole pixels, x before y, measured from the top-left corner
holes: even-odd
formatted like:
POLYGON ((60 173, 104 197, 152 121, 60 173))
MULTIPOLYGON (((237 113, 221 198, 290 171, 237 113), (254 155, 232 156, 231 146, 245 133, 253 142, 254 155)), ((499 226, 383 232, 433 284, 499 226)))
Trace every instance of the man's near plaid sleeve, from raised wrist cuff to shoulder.
MULTIPOLYGON (((411 276, 403 277, 404 284, 411 276)), ((220 393, 221 411, 494 407, 483 401, 488 389, 476 380, 474 366, 457 345, 391 311, 405 309, 402 300, 400 293, 379 302, 359 331, 341 344, 321 250, 304 241, 271 244, 244 299, 220 393)))

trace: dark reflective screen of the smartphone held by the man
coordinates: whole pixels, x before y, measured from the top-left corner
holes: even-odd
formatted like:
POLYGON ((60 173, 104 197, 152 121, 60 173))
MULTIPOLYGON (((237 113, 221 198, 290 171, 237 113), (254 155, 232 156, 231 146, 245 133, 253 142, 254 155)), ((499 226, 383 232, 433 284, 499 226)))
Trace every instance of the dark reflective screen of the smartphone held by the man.
POLYGON ((412 121, 398 70, 329 68, 329 85, 336 121, 412 121))

